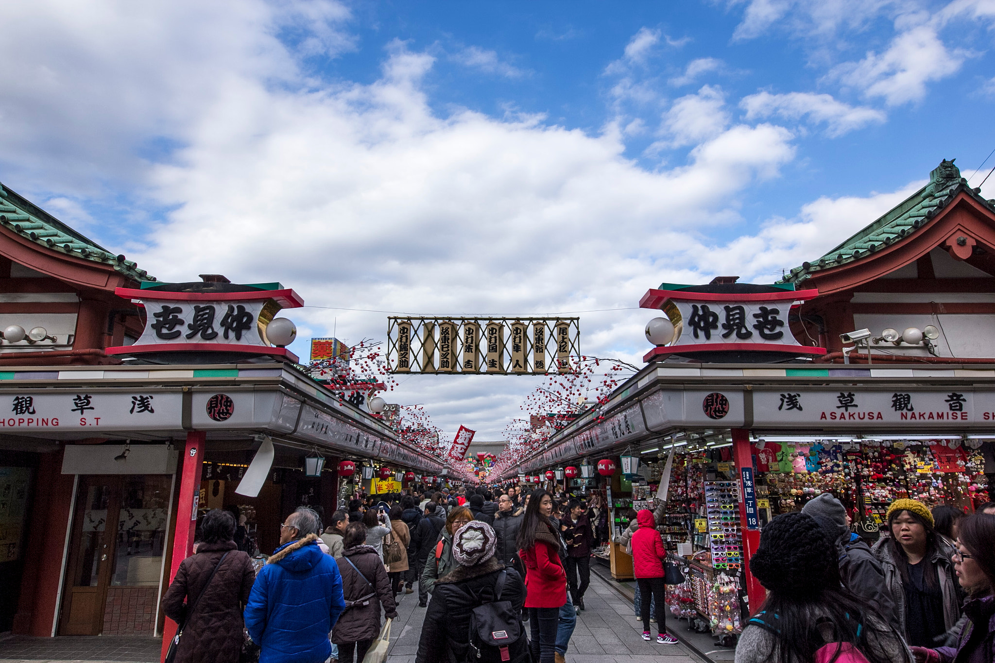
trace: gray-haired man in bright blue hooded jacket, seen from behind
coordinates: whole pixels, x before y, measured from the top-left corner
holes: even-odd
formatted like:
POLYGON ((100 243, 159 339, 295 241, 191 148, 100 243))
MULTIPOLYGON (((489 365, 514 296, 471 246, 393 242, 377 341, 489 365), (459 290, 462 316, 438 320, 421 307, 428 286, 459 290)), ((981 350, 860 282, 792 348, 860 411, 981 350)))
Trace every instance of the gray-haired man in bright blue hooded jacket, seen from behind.
POLYGON ((262 647, 260 663, 322 663, 331 655, 328 633, 345 609, 342 577, 317 547, 321 523, 304 507, 280 526, 280 548, 249 594, 246 628, 262 647))

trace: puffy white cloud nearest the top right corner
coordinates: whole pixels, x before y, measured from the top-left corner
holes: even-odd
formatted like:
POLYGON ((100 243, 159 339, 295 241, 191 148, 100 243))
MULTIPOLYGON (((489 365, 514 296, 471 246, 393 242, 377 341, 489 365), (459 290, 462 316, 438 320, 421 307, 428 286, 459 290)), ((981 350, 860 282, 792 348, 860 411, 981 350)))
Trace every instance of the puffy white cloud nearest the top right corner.
POLYGON ((897 105, 921 100, 926 83, 956 74, 967 55, 948 50, 932 25, 918 25, 898 34, 884 53, 869 52, 859 63, 834 68, 830 78, 897 105))

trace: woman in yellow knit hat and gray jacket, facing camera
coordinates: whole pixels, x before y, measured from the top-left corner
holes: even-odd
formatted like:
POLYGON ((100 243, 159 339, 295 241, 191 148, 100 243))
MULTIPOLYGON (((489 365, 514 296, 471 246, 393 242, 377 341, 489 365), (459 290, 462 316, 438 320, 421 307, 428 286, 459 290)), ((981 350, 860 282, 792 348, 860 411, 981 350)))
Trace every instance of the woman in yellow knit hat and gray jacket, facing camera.
POLYGON ((895 601, 897 619, 911 646, 935 647, 960 618, 962 593, 953 549, 933 531, 929 508, 896 500, 888 508, 888 533, 874 546, 895 601))

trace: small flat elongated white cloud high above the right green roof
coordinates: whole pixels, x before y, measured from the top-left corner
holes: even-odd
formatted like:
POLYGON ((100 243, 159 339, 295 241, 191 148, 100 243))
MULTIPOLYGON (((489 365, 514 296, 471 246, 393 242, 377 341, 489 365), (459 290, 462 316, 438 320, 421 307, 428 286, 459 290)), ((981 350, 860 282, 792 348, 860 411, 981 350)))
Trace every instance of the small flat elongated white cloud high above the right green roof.
POLYGON ((851 106, 833 98, 831 94, 813 92, 757 92, 743 97, 739 101, 739 107, 746 111, 748 120, 777 115, 794 120, 807 117, 813 123, 825 122, 826 133, 830 137, 842 136, 871 123, 884 122, 887 118, 881 110, 851 106))

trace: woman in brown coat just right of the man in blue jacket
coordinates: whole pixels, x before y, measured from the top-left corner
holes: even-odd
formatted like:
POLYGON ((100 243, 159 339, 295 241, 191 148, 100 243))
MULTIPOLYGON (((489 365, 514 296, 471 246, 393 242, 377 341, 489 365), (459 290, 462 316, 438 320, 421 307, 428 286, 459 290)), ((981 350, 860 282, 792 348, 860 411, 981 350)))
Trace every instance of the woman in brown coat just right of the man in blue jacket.
POLYGON ((338 645, 339 663, 362 663, 373 640, 380 633, 380 607, 388 619, 397 617, 397 603, 390 580, 376 549, 365 544, 366 526, 349 523, 342 538, 342 557, 335 560, 342 575, 345 610, 331 631, 338 645))

